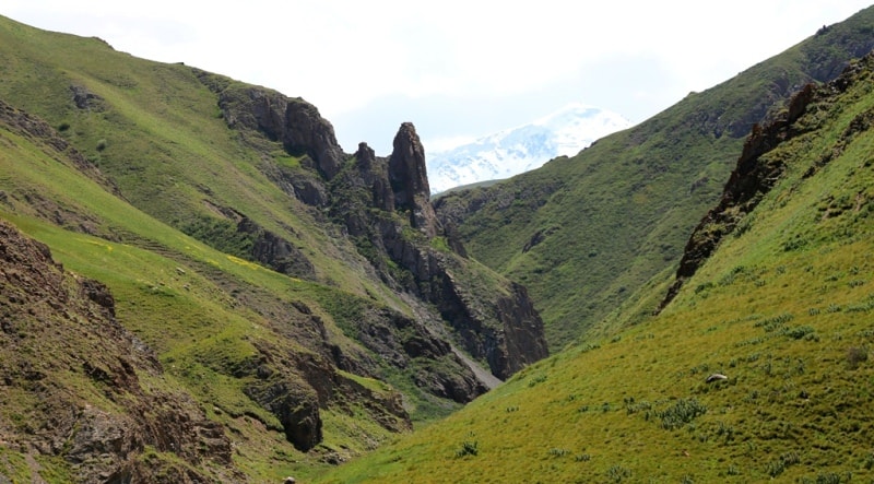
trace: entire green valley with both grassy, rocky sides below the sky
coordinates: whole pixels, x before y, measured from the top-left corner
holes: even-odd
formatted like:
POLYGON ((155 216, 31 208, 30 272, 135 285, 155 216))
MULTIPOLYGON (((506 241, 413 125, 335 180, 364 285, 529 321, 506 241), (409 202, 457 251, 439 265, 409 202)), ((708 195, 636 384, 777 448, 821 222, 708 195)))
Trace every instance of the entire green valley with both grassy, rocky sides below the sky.
POLYGON ((412 122, 0 17, 0 481, 871 479, 872 32, 432 199, 412 122))

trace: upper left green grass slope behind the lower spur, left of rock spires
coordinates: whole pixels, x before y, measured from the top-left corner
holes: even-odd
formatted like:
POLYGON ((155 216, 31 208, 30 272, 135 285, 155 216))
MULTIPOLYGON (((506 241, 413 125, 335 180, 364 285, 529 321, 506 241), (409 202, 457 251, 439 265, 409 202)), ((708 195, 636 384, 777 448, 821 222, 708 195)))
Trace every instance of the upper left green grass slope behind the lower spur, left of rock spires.
POLYGON ((362 295, 380 291, 366 278, 349 278, 344 262, 356 259, 354 249, 333 243, 259 170, 262 163, 291 163, 282 146, 264 161, 241 145, 191 68, 9 19, 0 19, 0 99, 61 131, 134 206, 189 233, 221 224, 216 208, 244 208, 256 223, 294 240, 318 268, 316 280, 362 295), (76 88, 92 96, 83 108, 71 102, 76 88))

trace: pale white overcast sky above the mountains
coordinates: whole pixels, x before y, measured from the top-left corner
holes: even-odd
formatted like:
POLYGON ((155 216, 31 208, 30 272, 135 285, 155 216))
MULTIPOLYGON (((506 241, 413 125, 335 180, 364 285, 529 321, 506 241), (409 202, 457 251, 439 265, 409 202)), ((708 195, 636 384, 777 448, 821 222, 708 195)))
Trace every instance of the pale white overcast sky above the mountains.
POLYGON ((3 0, 0 14, 300 96, 346 152, 426 150, 569 103, 639 122, 872 0, 3 0))

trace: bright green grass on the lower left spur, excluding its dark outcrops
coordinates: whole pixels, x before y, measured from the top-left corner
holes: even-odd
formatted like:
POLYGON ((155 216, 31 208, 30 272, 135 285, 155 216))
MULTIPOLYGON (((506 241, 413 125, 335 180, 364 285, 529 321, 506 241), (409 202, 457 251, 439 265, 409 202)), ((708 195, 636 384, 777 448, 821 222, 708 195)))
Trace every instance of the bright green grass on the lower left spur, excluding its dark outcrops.
MULTIPOLYGON (((306 476, 327 465, 326 453, 364 452, 392 434, 391 426, 387 428, 376 421, 374 408, 364 406, 367 399, 356 400, 356 392, 393 398, 391 387, 373 378, 336 370, 341 378, 368 390, 350 391, 345 400, 334 401, 326 409, 326 438, 315 455, 295 449, 277 432, 282 424, 276 416, 244 392, 257 381, 246 371, 252 362, 263 362, 271 354, 282 359, 287 357, 283 355, 318 358, 315 339, 334 344, 353 357, 363 353, 357 342, 345 337, 335 318, 341 319, 351 307, 380 309, 378 304, 334 287, 287 278, 188 237, 108 192, 40 139, 24 135, 3 122, 0 173, 0 217, 47 244, 66 269, 99 280, 110 288, 118 321, 146 342, 164 366, 166 373, 153 381, 155 388, 187 392, 211 420, 224 425, 235 445, 234 464, 253 482, 275 481, 288 474, 306 476), (46 216, 57 217, 61 226, 46 216), (146 247, 95 237, 83 233, 82 226, 94 233, 125 233, 146 247), (264 294, 270 297, 262 300, 265 307, 261 311, 239 304, 240 297, 258 298, 264 294), (323 333, 314 338, 306 334, 311 330, 305 321, 283 318, 287 315, 282 314, 282 306, 302 304, 320 316, 323 333), (290 323, 295 327, 283 327, 290 323), (268 344, 271 351, 264 351, 268 344)), ((50 345, 40 347, 42 357, 51 357, 57 350, 50 345)), ((300 379, 292 376, 290 381, 295 378, 300 379)), ((306 383, 300 379, 299 385, 306 383)), ((417 401, 416 393, 409 394, 417 401)), ((81 398, 87 401, 90 397, 81 398)), ((4 411, 12 403, 4 401, 4 411)), ((34 416, 34 422, 38 417, 34 416)), ((24 457, 20 458, 24 462, 24 457)), ((49 462, 60 468, 70 465, 61 459, 49 462)), ((24 468, 20 472, 28 471, 24 468)))

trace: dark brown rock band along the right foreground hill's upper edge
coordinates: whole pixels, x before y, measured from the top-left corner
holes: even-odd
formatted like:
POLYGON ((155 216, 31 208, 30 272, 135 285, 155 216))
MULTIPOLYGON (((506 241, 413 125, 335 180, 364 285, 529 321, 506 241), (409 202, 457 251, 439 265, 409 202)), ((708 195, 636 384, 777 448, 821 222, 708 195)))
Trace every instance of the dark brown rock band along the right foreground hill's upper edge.
MULTIPOLYGON (((659 306, 661 311, 677 295, 683 283, 692 278, 704 262, 713 253, 722 239, 731 234, 737 224, 751 213, 763 197, 778 181, 786 166, 779 160, 763 160, 763 156, 793 137, 802 134, 811 127, 799 126, 796 122, 811 103, 825 101, 838 93, 847 91, 848 86, 858 82, 854 75, 864 64, 874 63, 874 57, 869 55, 857 64, 849 66, 843 74, 822 87, 813 84, 805 85, 790 99, 787 109, 780 113, 765 127, 753 126, 753 132, 744 143, 743 152, 737 158, 737 165, 729 177, 719 204, 711 209, 701 220, 689 237, 683 252, 683 259, 676 272, 676 279, 659 306)), ((864 123, 864 122, 863 122, 864 123)), ((836 144, 836 150, 841 149, 841 141, 836 144)), ((828 160, 820 162, 827 163, 828 160)), ((817 169, 811 168, 807 176, 817 169)))

